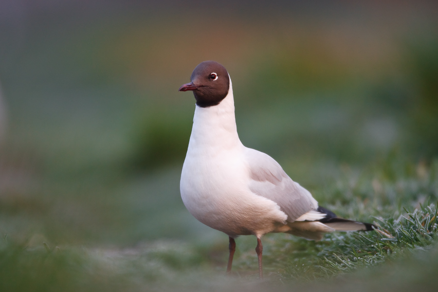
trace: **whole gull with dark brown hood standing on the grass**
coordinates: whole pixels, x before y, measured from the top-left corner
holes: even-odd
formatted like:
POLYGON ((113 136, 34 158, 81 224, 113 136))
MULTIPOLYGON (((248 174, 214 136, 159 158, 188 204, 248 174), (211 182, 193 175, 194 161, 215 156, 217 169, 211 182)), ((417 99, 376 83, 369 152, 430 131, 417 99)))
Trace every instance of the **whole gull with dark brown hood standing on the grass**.
POLYGON ((259 277, 263 277, 261 237, 288 233, 320 240, 333 231, 370 231, 374 225, 336 217, 318 205, 310 192, 292 181, 269 155, 243 146, 237 134, 231 78, 221 64, 204 61, 191 82, 193 127, 181 173, 181 198, 203 224, 229 237, 227 274, 236 250, 235 238, 257 238, 259 277))

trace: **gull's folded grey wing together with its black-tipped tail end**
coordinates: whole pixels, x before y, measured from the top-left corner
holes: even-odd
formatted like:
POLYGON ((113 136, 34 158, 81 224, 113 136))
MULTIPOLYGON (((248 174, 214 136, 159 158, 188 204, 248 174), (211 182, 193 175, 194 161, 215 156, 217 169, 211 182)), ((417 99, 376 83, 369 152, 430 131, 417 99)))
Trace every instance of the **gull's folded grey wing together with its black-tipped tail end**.
POLYGON ((293 182, 269 155, 250 148, 245 154, 250 169, 250 190, 277 203, 288 216, 286 225, 277 232, 319 240, 326 232, 374 229, 373 224, 338 218, 333 212, 318 206, 310 192, 293 182))

